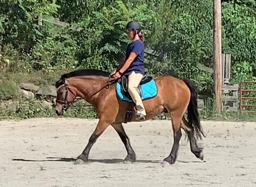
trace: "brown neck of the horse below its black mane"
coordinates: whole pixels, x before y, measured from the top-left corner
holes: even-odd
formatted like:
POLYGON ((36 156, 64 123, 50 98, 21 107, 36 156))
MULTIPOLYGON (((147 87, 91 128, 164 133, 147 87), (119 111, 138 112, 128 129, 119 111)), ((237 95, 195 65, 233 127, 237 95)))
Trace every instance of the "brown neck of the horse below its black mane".
POLYGON ((106 86, 107 80, 108 78, 105 77, 80 78, 74 80, 73 85, 77 88, 79 97, 93 104, 97 100, 100 90, 106 86))

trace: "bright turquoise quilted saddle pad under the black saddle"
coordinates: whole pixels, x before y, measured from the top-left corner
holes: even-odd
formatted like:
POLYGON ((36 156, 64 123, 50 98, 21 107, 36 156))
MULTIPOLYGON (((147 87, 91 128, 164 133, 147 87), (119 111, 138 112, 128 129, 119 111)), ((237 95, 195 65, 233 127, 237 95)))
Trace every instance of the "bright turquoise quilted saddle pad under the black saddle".
MULTIPOLYGON (((141 85, 141 91, 142 91, 142 100, 153 98, 157 95, 157 87, 156 82, 154 79, 150 80, 149 82, 141 85)), ((116 94, 121 100, 125 100, 128 102, 132 102, 131 99, 127 98, 123 92, 121 91, 121 85, 120 83, 116 83, 116 94)))

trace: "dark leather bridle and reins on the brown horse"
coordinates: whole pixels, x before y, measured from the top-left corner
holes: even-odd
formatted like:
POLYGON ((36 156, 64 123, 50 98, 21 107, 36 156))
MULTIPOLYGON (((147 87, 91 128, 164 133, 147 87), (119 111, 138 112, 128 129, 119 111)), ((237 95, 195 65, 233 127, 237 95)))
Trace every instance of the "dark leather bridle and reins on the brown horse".
MULTIPOLYGON (((102 87, 101 89, 99 89, 97 92, 91 94, 91 95, 89 96, 89 98, 91 98, 93 95, 97 94, 98 92, 100 92, 100 91, 101 91, 102 89, 104 89, 104 88, 108 89, 110 85, 112 85, 112 84, 115 83, 115 81, 116 81, 116 80, 114 80, 114 79, 111 80, 111 77, 109 77, 109 79, 107 80, 107 83, 104 85, 104 87, 102 87)), ((73 105, 73 103, 78 102, 78 101, 81 100, 82 98, 77 98, 77 99, 75 99, 73 102, 67 102, 68 90, 69 90, 74 96, 76 96, 76 94, 74 94, 74 93, 72 92, 72 90, 69 88, 68 82, 67 82, 67 80, 65 80, 65 79, 64 79, 64 83, 61 84, 61 85, 57 88, 57 92, 58 92, 58 90, 59 90, 60 88, 62 88, 62 87, 66 87, 66 92, 65 92, 64 100, 56 99, 56 103, 64 104, 63 109, 64 109, 65 111, 67 111, 67 109, 68 109, 70 106, 75 107, 75 106, 73 105)))

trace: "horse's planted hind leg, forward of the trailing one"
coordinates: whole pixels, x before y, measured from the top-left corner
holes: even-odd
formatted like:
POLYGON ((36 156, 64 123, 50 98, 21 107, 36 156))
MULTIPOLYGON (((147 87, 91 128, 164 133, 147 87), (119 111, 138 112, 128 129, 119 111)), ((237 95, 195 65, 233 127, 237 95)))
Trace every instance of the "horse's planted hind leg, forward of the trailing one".
POLYGON ((171 112, 170 116, 172 116, 172 126, 173 126, 173 136, 174 136, 174 143, 171 150, 170 155, 164 159, 164 162, 168 162, 170 164, 174 164, 177 158, 177 152, 179 149, 179 141, 182 136, 180 124, 182 120, 181 113, 177 115, 177 112, 171 112))

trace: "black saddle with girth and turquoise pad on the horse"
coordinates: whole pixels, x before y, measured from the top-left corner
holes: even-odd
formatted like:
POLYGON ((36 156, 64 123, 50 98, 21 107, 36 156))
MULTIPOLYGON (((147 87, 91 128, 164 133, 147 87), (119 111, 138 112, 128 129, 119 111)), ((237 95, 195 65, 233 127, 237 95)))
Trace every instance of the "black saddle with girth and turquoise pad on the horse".
MULTIPOLYGON (((152 76, 148 76, 147 73, 143 76, 140 84, 138 85, 137 92, 140 94, 142 100, 153 98, 157 94, 157 88, 152 76)), ((131 95, 128 92, 128 77, 123 75, 116 84, 116 93, 121 100, 129 102, 127 111, 125 114, 125 123, 131 121, 133 114, 133 107, 135 103, 132 100, 131 95)))

